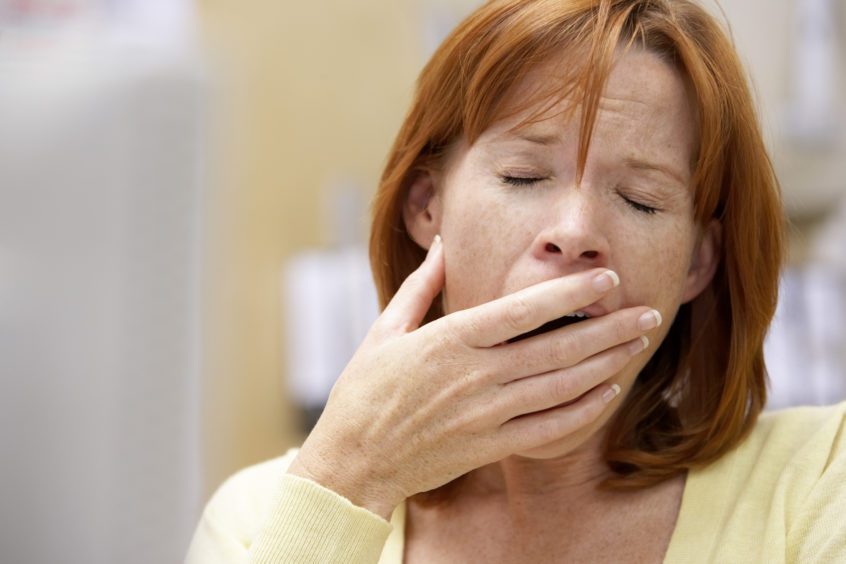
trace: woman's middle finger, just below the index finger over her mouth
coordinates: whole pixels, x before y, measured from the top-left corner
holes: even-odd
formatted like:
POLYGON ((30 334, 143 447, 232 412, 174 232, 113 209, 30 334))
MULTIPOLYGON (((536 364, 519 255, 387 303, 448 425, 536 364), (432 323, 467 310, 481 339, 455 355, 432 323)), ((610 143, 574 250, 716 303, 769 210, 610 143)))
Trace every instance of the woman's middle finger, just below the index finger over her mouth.
POLYGON ((500 383, 574 366, 586 358, 636 339, 661 324, 648 307, 626 308, 490 349, 501 367, 500 383))

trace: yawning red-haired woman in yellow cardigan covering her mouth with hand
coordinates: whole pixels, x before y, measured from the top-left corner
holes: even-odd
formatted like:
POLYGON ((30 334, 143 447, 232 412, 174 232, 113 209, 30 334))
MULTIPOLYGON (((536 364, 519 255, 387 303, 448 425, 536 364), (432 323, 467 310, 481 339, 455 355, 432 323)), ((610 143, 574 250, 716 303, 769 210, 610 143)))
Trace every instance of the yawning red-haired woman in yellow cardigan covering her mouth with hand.
POLYGON ((381 317, 189 561, 846 559, 844 406, 759 418, 782 223, 696 4, 484 5, 389 156, 381 317))

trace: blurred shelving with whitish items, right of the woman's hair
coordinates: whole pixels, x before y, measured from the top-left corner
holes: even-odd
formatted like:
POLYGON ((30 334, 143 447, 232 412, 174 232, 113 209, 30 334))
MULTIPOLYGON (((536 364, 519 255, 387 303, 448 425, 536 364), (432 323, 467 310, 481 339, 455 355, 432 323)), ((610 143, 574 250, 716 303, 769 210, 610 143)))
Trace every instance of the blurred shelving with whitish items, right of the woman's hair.
POLYGON ((770 409, 846 399, 846 6, 721 2, 755 87, 790 219, 765 349, 770 409), (766 14, 766 24, 762 24, 766 14))

